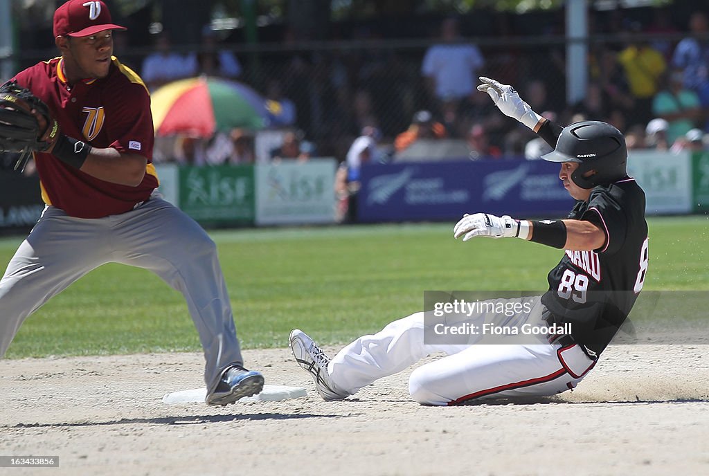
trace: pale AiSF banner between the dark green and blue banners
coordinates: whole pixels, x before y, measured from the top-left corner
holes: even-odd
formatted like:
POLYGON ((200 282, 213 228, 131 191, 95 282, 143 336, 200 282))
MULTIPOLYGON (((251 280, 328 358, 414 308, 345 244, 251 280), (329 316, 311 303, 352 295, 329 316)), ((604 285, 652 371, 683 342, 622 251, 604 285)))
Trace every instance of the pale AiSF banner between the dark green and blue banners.
POLYGON ((255 166, 256 224, 335 222, 335 159, 255 166))

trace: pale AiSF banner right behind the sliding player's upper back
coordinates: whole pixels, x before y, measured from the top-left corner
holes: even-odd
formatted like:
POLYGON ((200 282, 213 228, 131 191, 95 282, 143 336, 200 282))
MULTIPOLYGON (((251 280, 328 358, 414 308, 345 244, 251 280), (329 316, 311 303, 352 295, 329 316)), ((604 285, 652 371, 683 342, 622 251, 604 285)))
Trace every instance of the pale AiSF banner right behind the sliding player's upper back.
POLYGON ((628 175, 635 177, 645 191, 647 215, 692 210, 691 166, 687 152, 632 150, 629 156, 628 175))

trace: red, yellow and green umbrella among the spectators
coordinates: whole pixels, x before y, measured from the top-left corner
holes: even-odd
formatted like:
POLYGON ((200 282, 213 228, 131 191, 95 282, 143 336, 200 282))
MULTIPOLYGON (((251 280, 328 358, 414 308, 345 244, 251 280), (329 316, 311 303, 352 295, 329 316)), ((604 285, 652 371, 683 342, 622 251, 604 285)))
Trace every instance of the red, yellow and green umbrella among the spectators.
POLYGON ((157 135, 211 137, 233 128, 269 125, 265 100, 245 84, 210 77, 181 79, 151 94, 157 135))

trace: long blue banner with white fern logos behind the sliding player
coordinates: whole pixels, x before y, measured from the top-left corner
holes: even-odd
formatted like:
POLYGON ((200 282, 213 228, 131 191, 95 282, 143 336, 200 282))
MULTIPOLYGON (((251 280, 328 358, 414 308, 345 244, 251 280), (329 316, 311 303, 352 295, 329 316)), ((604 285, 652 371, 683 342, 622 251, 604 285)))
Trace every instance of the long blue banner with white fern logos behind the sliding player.
POLYGON ((366 164, 357 197, 360 222, 458 220, 475 212, 561 217, 573 206, 559 164, 543 160, 366 164))

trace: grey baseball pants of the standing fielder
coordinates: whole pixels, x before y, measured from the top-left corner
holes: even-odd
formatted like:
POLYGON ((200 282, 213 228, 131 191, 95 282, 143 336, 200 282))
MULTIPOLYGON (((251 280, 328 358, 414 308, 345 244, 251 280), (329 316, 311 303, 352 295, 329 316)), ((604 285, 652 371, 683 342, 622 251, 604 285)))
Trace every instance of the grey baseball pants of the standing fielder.
POLYGON ((45 208, 0 280, 0 357, 26 317, 105 263, 150 270, 184 295, 204 349, 208 392, 223 368, 242 364, 216 245, 159 193, 135 210, 96 219, 45 208))

